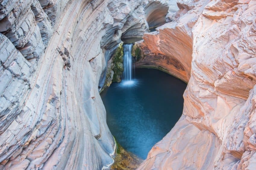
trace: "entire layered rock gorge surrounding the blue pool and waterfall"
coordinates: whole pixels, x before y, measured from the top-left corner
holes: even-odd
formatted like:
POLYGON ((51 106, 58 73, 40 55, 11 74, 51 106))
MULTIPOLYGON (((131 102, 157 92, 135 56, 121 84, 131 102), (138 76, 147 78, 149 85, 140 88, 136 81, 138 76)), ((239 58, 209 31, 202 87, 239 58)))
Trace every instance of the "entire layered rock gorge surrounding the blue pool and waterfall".
POLYGON ((109 169, 99 92, 129 43, 136 68, 188 83, 138 169, 255 169, 256 1, 2 0, 0 40, 0 169, 109 169))

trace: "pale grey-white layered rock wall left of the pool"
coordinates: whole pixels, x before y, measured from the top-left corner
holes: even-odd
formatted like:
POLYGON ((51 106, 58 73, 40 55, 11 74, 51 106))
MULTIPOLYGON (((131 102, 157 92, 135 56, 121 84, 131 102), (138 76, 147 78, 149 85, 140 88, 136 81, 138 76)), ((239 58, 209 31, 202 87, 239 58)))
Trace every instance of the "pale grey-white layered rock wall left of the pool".
POLYGON ((115 143, 98 92, 103 54, 131 27, 147 29, 146 4, 0 2, 0 169, 91 170, 113 163, 115 143))

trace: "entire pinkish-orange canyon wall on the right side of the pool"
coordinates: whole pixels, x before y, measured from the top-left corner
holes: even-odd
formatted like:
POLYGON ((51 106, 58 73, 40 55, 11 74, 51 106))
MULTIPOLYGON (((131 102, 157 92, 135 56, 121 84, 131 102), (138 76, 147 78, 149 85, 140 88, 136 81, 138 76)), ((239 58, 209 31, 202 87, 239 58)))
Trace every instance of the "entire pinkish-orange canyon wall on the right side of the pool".
POLYGON ((256 1, 179 0, 178 7, 175 21, 140 43, 170 72, 167 57, 183 64, 183 115, 139 169, 255 169, 256 1))

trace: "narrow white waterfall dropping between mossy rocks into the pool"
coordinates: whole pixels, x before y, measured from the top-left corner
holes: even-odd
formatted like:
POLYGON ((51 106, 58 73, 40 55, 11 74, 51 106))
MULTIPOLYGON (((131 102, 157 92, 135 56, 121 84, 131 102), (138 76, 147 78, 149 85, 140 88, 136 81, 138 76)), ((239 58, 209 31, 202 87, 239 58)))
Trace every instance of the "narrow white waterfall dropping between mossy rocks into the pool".
POLYGON ((133 57, 132 57, 133 44, 123 45, 123 85, 133 85, 135 80, 133 79, 133 57))

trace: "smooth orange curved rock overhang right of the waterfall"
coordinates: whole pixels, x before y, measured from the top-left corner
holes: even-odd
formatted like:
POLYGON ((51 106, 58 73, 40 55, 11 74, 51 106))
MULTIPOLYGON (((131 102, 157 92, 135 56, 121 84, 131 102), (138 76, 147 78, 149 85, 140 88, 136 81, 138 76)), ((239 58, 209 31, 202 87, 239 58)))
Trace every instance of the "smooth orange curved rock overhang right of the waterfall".
MULTIPOLYGON (((208 1, 196 2, 204 6, 207 3, 208 1)), ((178 6, 182 4, 178 3, 178 6)), ((189 10, 187 8, 181 7, 176 13, 179 19, 173 18, 173 22, 156 28, 157 31, 144 34, 144 41, 139 42, 143 57, 136 62, 136 67, 158 68, 185 82, 189 81, 192 60, 191 30, 204 8, 195 6, 188 12, 190 15, 183 15, 189 10)))

